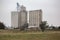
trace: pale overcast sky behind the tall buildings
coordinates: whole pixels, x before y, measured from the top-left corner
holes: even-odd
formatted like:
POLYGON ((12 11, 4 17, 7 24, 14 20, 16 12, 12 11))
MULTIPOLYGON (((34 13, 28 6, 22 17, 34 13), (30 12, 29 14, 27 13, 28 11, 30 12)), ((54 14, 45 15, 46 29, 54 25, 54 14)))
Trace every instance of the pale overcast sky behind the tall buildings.
POLYGON ((11 26, 11 11, 16 10, 16 3, 29 10, 42 9, 43 20, 49 25, 60 25, 60 0, 0 0, 0 21, 11 26))

